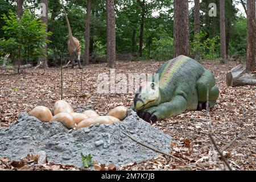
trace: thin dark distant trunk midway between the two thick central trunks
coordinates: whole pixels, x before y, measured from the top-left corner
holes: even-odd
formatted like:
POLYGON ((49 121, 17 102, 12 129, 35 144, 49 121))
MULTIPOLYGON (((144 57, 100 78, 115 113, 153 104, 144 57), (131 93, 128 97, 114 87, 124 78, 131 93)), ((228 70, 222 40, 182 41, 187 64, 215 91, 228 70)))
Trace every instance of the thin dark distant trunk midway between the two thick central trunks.
POLYGON ((146 5, 145 0, 137 0, 139 6, 141 7, 141 30, 139 32, 139 57, 143 56, 143 37, 144 37, 144 21, 146 15, 146 5))

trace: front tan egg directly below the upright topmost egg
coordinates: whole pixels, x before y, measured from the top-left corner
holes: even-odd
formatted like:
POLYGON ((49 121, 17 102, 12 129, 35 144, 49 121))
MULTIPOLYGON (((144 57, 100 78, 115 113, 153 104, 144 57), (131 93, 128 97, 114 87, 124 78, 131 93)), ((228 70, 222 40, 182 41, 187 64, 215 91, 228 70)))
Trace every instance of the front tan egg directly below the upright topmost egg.
POLYGON ((56 114, 51 121, 61 122, 68 129, 73 129, 75 127, 75 121, 72 114, 70 113, 59 113, 56 114))

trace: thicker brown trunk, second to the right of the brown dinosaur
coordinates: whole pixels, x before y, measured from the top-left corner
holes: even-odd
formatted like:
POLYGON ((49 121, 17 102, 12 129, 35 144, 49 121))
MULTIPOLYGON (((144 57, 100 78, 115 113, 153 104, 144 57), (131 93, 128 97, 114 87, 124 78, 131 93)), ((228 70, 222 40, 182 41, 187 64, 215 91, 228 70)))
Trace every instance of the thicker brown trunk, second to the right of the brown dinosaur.
POLYGON ((107 11, 107 61, 109 68, 115 68, 115 10, 114 0, 106 0, 107 11))

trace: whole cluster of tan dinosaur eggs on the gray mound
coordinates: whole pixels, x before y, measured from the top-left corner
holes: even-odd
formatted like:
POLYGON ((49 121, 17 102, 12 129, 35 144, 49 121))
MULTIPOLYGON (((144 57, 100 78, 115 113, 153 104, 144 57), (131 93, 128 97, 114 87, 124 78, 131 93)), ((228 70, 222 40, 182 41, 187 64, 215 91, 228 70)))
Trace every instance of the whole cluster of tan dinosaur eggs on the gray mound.
POLYGON ((68 129, 80 129, 91 125, 113 124, 122 121, 127 114, 125 106, 118 106, 110 110, 107 115, 100 116, 94 110, 86 110, 84 113, 74 113, 68 102, 57 101, 53 107, 53 115, 51 110, 45 106, 36 106, 30 111, 30 115, 38 118, 42 122, 57 121, 63 123, 68 129))

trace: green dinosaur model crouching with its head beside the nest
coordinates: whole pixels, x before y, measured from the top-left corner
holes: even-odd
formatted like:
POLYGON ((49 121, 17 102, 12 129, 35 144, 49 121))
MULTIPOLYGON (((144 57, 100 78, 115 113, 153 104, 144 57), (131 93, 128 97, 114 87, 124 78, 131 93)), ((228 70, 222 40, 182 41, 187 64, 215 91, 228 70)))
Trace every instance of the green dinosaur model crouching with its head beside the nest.
POLYGON ((219 90, 213 73, 197 61, 179 56, 159 69, 159 81, 144 82, 135 94, 134 106, 147 122, 172 117, 185 110, 203 110, 216 104, 219 90))

